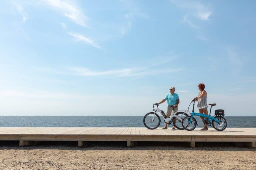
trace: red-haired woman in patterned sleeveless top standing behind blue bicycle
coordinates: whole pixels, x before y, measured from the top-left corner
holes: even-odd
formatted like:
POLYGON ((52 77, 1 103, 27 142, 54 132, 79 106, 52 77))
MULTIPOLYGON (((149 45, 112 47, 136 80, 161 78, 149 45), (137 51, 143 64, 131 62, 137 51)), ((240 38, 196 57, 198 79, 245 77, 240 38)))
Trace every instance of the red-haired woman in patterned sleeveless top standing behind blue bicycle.
MULTIPOLYGON (((204 90, 205 88, 205 85, 203 83, 200 83, 198 85, 198 89, 200 90, 198 96, 196 97, 196 101, 198 101, 197 103, 197 108, 199 109, 199 113, 202 113, 202 114, 205 114, 205 115, 208 115, 208 110, 207 110, 207 93, 206 91, 204 90)), ((204 128, 202 128, 201 130, 208 130, 207 128, 207 124, 205 124, 204 122, 204 118, 203 117, 200 117, 202 119, 202 122, 204 124, 204 128)))

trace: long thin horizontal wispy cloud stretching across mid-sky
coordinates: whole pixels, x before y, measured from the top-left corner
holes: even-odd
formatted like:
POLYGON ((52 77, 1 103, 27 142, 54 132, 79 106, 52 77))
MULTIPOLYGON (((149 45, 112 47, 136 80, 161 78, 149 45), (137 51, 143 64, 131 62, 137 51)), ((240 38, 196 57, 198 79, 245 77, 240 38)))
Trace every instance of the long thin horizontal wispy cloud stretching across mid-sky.
POLYGON ((154 75, 159 73, 170 73, 182 71, 183 69, 165 69, 165 70, 148 70, 147 67, 141 68, 124 68, 117 70, 93 71, 86 67, 69 67, 74 75, 79 76, 101 76, 101 75, 115 75, 118 77, 135 77, 143 75, 154 75))

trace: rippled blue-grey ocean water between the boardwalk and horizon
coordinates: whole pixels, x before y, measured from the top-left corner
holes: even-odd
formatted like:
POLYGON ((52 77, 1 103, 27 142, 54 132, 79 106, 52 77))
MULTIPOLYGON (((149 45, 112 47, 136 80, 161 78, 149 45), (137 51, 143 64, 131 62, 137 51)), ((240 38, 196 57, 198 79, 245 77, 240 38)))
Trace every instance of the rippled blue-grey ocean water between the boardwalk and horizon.
MULTIPOLYGON (((0 127, 144 127, 144 116, 0 116, 0 127)), ((225 116, 228 128, 256 128, 256 116, 225 116)), ((161 118, 162 119, 162 118, 161 118)), ((199 127, 203 123, 196 118, 199 127)), ((160 127, 164 126, 163 120, 160 127)))

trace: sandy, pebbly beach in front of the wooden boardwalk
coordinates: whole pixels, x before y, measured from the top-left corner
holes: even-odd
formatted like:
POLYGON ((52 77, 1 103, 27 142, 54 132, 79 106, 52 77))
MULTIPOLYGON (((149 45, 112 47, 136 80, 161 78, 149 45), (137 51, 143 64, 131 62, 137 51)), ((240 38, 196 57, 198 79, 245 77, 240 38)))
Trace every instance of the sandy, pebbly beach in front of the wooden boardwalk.
POLYGON ((256 169, 247 147, 2 146, 0 169, 256 169))

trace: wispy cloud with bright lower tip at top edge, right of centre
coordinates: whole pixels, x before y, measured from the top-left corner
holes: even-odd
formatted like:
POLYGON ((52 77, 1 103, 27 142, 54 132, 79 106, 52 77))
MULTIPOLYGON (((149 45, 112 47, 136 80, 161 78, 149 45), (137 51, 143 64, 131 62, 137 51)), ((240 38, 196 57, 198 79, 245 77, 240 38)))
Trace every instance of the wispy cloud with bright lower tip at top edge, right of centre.
POLYGON ((207 6, 198 1, 170 0, 170 2, 178 8, 184 9, 186 13, 203 21, 208 20, 212 14, 212 11, 207 6))

